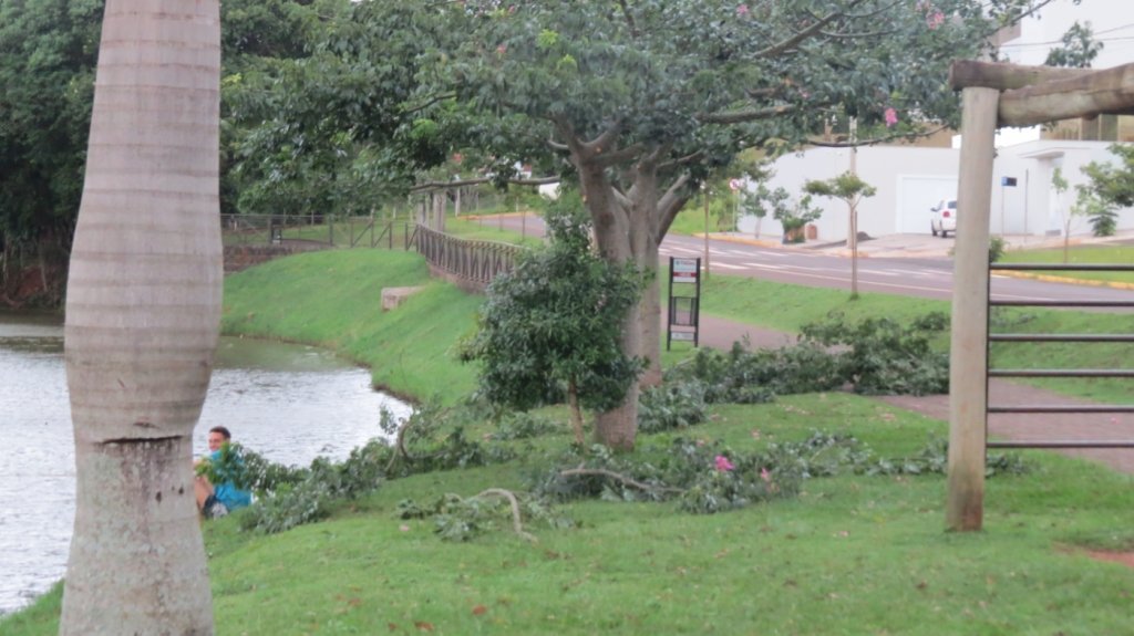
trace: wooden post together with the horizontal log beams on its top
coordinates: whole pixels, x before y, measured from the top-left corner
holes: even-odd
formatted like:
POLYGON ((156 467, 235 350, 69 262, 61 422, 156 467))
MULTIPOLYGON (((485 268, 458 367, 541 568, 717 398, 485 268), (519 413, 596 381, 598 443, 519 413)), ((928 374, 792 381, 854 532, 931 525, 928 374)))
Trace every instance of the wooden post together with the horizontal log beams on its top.
POLYGON ((988 249, 993 138, 998 127, 1099 114, 1134 114, 1134 63, 1106 70, 958 60, 949 84, 964 91, 957 241, 949 353, 950 530, 980 530, 988 430, 988 249))

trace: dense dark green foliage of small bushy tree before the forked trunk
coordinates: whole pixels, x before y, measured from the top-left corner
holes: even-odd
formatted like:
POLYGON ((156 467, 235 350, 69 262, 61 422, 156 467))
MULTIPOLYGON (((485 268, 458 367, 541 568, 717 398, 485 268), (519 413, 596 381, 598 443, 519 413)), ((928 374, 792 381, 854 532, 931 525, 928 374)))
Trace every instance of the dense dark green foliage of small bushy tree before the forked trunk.
POLYGON ((460 350, 481 363, 480 394, 527 410, 577 394, 583 407, 619 404, 642 368, 620 347, 626 311, 642 277, 591 251, 576 196, 548 209, 550 244, 519 259, 489 286, 476 334, 460 350))

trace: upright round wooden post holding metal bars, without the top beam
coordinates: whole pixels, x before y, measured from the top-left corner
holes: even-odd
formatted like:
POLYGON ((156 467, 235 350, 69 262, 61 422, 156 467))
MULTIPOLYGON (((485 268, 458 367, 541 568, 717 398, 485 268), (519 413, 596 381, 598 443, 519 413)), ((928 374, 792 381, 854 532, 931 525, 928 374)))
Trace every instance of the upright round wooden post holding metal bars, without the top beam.
POLYGON ((948 526, 956 531, 980 530, 984 515, 989 214, 999 101, 1000 92, 995 88, 965 88, 963 93, 946 508, 948 526))

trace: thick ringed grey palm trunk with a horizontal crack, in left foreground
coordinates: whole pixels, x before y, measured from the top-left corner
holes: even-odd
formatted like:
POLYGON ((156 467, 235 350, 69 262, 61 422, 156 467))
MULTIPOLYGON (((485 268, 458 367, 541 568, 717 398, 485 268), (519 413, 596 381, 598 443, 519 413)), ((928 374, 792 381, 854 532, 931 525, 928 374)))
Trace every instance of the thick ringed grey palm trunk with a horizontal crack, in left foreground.
POLYGON ((217 345, 220 10, 109 0, 67 292, 60 634, 212 634, 192 435, 217 345))

